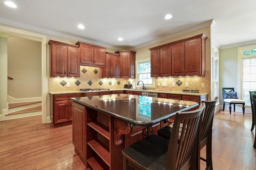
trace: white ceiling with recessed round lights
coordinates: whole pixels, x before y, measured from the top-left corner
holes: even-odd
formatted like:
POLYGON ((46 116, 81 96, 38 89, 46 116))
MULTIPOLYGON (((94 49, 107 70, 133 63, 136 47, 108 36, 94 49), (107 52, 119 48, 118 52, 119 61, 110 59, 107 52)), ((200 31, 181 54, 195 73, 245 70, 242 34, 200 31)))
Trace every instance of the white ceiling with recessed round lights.
POLYGON ((114 49, 143 47, 211 23, 220 49, 256 43, 256 0, 11 0, 17 8, 4 1, 0 23, 114 49))

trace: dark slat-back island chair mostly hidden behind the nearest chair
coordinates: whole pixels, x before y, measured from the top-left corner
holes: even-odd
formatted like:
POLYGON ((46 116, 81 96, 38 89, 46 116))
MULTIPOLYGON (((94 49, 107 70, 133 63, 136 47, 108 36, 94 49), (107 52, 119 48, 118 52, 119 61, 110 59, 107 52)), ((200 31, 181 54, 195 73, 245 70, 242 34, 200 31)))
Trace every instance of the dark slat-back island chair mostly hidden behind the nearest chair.
MULTIPOLYGON (((206 162, 206 169, 212 170, 212 122, 214 116, 215 105, 218 101, 218 97, 215 97, 212 101, 203 101, 205 103, 204 112, 202 113, 202 124, 200 125, 197 161, 198 170, 200 169, 200 159, 206 162), (200 157, 200 150, 206 145, 206 159, 200 157)), ((173 123, 165 126, 157 131, 159 136, 166 139, 170 139, 170 134, 173 128, 173 123)), ((181 133, 181 131, 180 131, 181 133)))

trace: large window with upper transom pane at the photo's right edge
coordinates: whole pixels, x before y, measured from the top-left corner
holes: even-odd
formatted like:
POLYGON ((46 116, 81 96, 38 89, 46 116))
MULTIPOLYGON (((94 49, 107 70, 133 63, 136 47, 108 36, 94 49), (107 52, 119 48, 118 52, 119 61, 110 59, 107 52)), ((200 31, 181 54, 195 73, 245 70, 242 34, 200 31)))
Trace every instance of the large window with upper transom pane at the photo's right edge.
POLYGON ((256 91, 256 45, 239 48, 238 57, 242 74, 240 76, 242 98, 250 106, 249 91, 256 91))

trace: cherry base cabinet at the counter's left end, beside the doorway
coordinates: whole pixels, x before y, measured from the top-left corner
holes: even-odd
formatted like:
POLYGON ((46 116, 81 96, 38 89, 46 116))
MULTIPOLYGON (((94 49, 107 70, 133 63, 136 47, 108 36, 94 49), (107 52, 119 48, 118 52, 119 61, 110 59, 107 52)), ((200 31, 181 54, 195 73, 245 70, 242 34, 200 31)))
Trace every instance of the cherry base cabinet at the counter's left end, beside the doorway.
POLYGON ((54 127, 72 123, 72 100, 70 98, 76 97, 81 97, 81 94, 50 95, 50 119, 54 127))

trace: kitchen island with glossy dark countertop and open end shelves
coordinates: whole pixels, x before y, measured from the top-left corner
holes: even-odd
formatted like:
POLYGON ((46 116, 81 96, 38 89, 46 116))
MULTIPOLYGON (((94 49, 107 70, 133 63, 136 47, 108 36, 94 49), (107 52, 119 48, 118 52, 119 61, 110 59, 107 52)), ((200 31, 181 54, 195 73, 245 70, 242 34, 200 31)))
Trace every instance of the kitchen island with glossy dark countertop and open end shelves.
POLYGON ((156 134, 196 102, 128 94, 72 98, 73 144, 90 169, 122 169, 122 149, 156 134))

